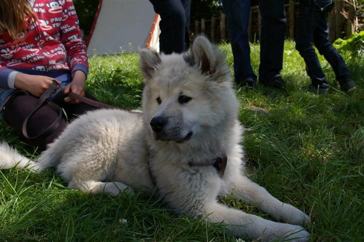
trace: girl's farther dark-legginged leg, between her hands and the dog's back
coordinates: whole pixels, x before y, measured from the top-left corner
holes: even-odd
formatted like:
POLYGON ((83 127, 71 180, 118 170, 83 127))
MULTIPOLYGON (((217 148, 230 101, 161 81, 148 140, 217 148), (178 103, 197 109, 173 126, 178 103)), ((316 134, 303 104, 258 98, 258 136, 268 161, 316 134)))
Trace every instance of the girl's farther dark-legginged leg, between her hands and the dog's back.
MULTIPOLYGON (((64 101, 64 97, 66 97, 66 95, 64 95, 63 92, 58 92, 57 95, 53 97, 52 101, 64 109, 65 113, 67 114, 68 120, 72 120, 73 118, 78 117, 86 111, 98 109, 98 107, 89 105, 84 102, 70 104, 64 101)), ((97 99, 88 92, 85 92, 85 97, 97 101, 97 99)))

